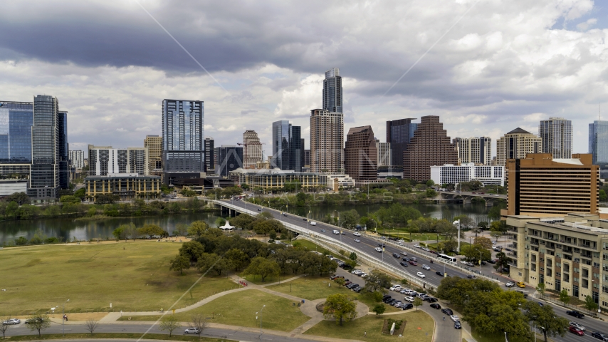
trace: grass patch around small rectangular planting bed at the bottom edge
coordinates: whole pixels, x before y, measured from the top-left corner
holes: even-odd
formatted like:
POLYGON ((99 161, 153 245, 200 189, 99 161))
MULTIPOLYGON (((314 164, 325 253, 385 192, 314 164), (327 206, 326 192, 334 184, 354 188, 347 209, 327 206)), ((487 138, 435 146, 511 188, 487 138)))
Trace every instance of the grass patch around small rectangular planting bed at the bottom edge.
POLYGON ((380 317, 367 315, 362 318, 357 318, 354 321, 343 323, 343 326, 337 325, 335 321, 321 321, 304 333, 307 335, 360 341, 396 341, 398 339, 397 336, 382 334, 384 319, 388 318, 407 321, 404 322, 406 324, 403 331, 403 336, 406 337, 404 338, 404 341, 432 341, 435 322, 431 316, 421 310, 410 310, 406 314, 380 317), (367 338, 364 337, 365 332, 367 332, 367 338), (426 336, 426 333, 428 333, 428 336, 426 336))

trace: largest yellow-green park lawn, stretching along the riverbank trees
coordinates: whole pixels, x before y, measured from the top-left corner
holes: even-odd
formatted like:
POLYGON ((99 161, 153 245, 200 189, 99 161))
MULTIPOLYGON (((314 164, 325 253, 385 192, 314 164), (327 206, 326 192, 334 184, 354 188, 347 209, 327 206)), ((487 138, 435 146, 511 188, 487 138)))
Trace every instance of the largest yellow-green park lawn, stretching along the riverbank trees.
POLYGON ((2 289, 0 315, 46 312, 65 304, 67 312, 159 311, 182 294, 176 309, 194 304, 218 291, 236 287, 224 276, 201 276, 194 269, 184 275, 169 271, 177 242, 120 242, 113 244, 55 244, 0 250, 2 289), (9 275, 9 276, 6 276, 9 275), (112 303, 112 309, 110 309, 112 303))

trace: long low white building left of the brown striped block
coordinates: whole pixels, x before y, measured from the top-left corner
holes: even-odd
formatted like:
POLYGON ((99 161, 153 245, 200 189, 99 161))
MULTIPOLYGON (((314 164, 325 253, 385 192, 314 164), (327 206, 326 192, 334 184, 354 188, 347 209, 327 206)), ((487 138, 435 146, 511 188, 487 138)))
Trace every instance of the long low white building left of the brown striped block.
POLYGON ((505 167, 475 165, 468 162, 461 165, 446 164, 431 166, 431 180, 438 185, 458 184, 460 182, 481 182, 486 185, 505 186, 505 167))

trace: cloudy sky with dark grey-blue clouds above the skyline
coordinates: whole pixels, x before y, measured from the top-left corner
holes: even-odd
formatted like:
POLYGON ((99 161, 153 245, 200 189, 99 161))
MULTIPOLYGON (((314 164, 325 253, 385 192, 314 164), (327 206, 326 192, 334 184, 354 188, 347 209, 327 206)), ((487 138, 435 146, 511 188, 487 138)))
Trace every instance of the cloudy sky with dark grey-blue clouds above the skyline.
POLYGON ((204 100, 216 145, 253 129, 268 153, 271 123, 290 120, 308 148, 332 67, 345 132, 372 125, 381 141, 399 118, 496 140, 560 116, 587 152, 599 103, 608 118, 608 1, 19 0, 0 32, 0 100, 55 95, 73 150, 142 146, 164 98, 204 100))

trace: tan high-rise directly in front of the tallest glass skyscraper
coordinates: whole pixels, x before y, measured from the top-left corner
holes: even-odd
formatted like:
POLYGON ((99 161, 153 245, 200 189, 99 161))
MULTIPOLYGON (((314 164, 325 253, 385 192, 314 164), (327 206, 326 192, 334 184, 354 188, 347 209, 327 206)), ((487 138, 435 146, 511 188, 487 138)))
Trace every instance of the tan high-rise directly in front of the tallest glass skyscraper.
POLYGON ((344 115, 310 110, 310 170, 344 172, 344 115))

